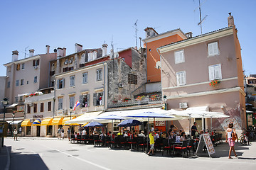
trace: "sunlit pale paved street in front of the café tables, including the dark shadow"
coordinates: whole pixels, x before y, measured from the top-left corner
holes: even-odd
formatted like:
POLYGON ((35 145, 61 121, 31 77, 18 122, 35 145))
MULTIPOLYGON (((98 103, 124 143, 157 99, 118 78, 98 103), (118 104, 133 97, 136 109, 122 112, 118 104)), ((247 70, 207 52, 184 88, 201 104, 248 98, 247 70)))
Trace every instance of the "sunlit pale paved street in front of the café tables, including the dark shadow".
MULTIPOLYGON (((143 152, 70 144, 68 140, 38 137, 5 139, 11 149, 14 169, 255 169, 256 142, 250 146, 236 143, 238 159, 228 159, 228 145, 215 147, 217 158, 149 157, 143 152)), ((1 168, 0 168, 1 169, 1 168)))

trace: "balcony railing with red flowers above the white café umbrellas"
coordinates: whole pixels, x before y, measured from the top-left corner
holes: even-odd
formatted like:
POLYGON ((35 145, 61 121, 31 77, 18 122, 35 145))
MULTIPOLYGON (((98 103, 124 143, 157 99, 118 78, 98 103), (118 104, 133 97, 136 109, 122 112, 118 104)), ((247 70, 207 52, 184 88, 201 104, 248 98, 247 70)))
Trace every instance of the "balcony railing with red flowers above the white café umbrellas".
POLYGON ((144 98, 132 98, 132 99, 122 99, 119 101, 110 101, 108 102, 108 108, 120 108, 127 106, 140 106, 140 105, 148 105, 148 104, 158 104, 162 103, 162 97, 144 97, 144 98))

